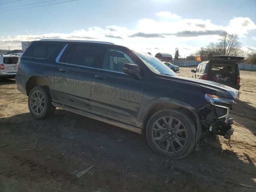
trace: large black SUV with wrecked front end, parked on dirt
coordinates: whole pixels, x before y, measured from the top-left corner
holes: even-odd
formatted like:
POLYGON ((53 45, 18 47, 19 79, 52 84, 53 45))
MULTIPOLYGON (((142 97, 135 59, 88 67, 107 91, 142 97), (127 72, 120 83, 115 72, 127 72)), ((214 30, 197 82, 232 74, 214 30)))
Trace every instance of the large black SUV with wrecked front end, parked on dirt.
POLYGON ((18 90, 38 119, 56 107, 137 133, 162 156, 182 158, 202 137, 230 139, 239 92, 178 77, 150 54, 107 42, 34 41, 19 62, 18 90))

